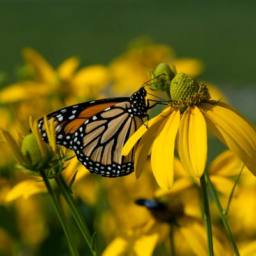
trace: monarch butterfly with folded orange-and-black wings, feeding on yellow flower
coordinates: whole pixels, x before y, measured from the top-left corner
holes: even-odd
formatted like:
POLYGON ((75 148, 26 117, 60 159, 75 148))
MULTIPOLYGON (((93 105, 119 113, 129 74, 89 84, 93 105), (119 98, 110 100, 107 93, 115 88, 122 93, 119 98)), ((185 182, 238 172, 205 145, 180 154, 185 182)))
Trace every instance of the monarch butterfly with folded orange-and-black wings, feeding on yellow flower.
MULTIPOLYGON (((72 149, 90 172, 103 177, 125 176, 133 172, 133 149, 128 156, 121 150, 147 116, 149 100, 144 85, 130 97, 105 98, 84 102, 47 115, 54 118, 56 143, 72 149)), ((38 127, 48 142, 43 118, 38 127)))

